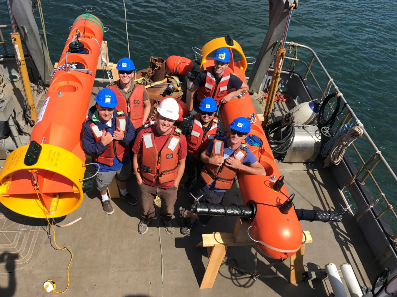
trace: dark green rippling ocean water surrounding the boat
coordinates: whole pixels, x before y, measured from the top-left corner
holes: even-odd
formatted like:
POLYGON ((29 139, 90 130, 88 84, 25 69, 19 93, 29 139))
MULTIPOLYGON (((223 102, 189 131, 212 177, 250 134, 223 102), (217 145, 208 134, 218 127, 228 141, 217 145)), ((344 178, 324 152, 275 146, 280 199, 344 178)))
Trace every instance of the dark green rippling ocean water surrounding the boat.
MULTIPOLYGON (((5 2, 2 6, 0 19, 8 24, 5 2)), ((137 69, 148 67, 151 55, 192 59, 192 46, 201 48, 210 39, 227 34, 241 44, 246 56, 256 57, 268 28, 267 1, 125 0, 125 6, 129 51, 137 69)), ((42 0, 42 8, 52 63, 60 57, 68 27, 78 15, 91 9, 110 29, 104 36, 110 61, 128 56, 123 2, 42 0)), ((41 29, 38 9, 34 14, 41 29)), ((396 24, 390 4, 379 0, 301 0, 287 38, 316 51, 395 171, 396 24)), ((6 29, 3 34, 9 36, 6 29)), ((373 154, 364 141, 357 141, 357 146, 364 149, 364 159, 373 154)), ((397 202, 393 197, 397 185, 383 165, 377 167, 376 174, 389 200, 397 202)))

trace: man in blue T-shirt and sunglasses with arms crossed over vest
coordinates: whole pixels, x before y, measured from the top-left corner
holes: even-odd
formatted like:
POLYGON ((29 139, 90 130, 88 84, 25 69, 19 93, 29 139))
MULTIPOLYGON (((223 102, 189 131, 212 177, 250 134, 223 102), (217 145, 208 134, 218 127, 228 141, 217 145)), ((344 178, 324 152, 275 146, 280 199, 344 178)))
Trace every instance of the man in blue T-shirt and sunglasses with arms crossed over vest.
MULTIPOLYGON (((227 134, 229 137, 216 137, 207 149, 201 153, 205 163, 200 179, 192 191, 193 196, 200 197, 200 202, 222 203, 225 192, 233 185, 237 173, 242 170, 250 174, 266 175, 263 166, 242 141, 251 132, 251 123, 247 118, 239 117, 231 122, 227 134)), ((193 199, 190 201, 193 203, 193 199)), ((205 226, 210 216, 200 215, 185 209, 179 209, 184 225, 180 232, 189 234, 192 227, 200 220, 205 226)))

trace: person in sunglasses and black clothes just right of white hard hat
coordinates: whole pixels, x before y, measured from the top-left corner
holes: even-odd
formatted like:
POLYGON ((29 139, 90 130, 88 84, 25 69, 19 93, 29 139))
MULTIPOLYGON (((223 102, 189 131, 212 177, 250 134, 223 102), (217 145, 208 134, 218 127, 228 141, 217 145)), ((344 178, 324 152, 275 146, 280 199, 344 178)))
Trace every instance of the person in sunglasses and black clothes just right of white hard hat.
POLYGON ((182 127, 182 134, 186 136, 187 157, 189 166, 185 167, 188 179, 185 182, 185 190, 190 191, 196 181, 195 168, 200 174, 204 163, 200 160, 200 154, 208 147, 214 137, 224 135, 225 128, 215 117, 216 101, 211 97, 205 97, 198 105, 200 113, 187 119, 182 127))

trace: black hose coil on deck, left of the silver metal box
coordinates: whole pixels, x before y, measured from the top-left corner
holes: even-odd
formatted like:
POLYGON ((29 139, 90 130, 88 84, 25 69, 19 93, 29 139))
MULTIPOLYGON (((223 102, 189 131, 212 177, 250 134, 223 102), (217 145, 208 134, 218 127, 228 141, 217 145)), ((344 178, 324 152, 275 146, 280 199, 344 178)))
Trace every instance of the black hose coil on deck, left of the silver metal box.
POLYGON ((283 119, 268 125, 265 128, 265 135, 274 158, 283 159, 295 137, 292 114, 289 112, 283 119))

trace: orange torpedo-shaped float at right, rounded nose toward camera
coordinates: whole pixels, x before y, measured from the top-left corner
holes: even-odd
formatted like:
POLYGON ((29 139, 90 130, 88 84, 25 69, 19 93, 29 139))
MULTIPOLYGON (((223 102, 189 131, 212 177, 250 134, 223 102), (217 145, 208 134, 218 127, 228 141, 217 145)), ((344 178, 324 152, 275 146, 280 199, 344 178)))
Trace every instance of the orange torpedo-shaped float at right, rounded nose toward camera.
MULTIPOLYGON (((207 55, 223 47, 236 49, 241 54, 241 61, 237 63, 233 62, 233 53, 231 52, 229 70, 245 81, 244 70, 246 60, 241 47, 235 41, 234 46, 226 44, 224 38, 216 38, 208 42, 200 52, 202 55, 201 66, 205 65, 205 67, 208 67, 214 65, 213 59, 207 57, 207 55), (239 67, 239 65, 242 66, 239 67)), ((235 118, 240 116, 252 119, 251 133, 249 135, 255 136, 258 139, 256 141, 261 142, 259 146, 256 146, 258 145, 257 142, 255 143, 256 145, 250 145, 249 141, 246 144, 260 164, 266 169, 266 176, 252 175, 244 171, 237 174, 244 204, 256 203, 256 214, 253 221, 250 222, 252 227, 249 229, 252 239, 258 242, 258 249, 268 257, 274 259, 291 257, 301 247, 302 228, 295 211, 289 211, 287 214, 283 214, 277 207, 288 199, 289 194, 285 185, 281 187, 279 192, 276 192, 272 188, 276 180, 281 176, 281 173, 277 167, 260 121, 256 120, 256 117, 255 119, 252 118, 252 115, 256 114, 256 110, 249 94, 245 94, 245 98, 234 98, 222 104, 220 113, 225 128, 235 118)))

